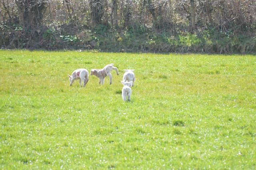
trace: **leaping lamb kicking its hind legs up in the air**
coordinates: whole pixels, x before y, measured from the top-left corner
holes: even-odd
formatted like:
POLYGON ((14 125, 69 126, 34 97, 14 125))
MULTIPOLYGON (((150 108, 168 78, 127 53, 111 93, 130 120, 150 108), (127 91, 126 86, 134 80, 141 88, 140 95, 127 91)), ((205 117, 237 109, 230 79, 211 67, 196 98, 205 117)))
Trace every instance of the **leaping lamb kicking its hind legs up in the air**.
POLYGON ((91 76, 94 75, 94 76, 96 76, 100 79, 99 85, 100 84, 103 85, 104 84, 104 78, 106 76, 108 76, 109 79, 110 79, 109 84, 112 84, 112 75, 111 75, 111 70, 112 69, 116 70, 116 74, 119 75, 118 69, 116 67, 114 67, 114 64, 108 64, 104 68, 102 68, 101 70, 100 69, 92 69, 91 70, 91 76))

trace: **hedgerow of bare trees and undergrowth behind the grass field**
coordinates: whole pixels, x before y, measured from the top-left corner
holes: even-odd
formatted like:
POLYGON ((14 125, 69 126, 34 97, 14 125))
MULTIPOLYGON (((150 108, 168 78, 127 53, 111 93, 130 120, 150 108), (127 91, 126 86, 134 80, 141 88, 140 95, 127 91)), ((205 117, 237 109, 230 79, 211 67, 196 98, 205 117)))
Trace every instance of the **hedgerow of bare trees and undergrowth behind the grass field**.
POLYGON ((0 30, 4 37, 0 45, 7 49, 26 44, 28 49, 41 50, 255 53, 255 6, 252 0, 2 0, 0 24, 13 26, 0 30), (52 28, 54 36, 49 32, 52 28), (99 36, 103 37, 95 45, 92 40, 99 36), (245 42, 236 44, 240 36, 245 42))

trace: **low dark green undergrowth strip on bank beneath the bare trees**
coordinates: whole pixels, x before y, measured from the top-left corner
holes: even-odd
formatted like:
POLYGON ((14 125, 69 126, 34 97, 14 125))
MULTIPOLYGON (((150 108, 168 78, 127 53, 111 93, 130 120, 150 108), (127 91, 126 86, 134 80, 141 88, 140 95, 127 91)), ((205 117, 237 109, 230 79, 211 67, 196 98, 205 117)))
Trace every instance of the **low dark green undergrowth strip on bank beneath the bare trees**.
POLYGON ((39 26, 24 30, 17 24, 0 25, 2 49, 96 50, 102 52, 256 54, 256 37, 246 32, 215 30, 125 31, 98 26, 39 26))

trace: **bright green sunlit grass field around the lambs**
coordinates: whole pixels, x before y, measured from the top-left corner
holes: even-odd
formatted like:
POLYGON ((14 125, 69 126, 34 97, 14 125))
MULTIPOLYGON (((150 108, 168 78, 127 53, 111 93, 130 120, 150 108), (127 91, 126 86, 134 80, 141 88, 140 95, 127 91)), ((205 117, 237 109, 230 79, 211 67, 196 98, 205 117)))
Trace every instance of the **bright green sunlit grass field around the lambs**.
POLYGON ((0 169, 256 169, 256 56, 0 50, 0 76, 0 169))

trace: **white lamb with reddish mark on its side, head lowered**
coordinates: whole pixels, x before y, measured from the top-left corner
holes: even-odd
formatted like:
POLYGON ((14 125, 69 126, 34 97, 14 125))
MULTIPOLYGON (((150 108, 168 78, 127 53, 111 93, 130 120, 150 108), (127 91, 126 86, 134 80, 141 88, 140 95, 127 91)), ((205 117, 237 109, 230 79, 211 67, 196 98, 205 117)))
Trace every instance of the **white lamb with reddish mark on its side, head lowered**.
POLYGON ((78 79, 79 79, 79 82, 80 82, 80 86, 82 86, 82 81, 84 82, 84 86, 89 81, 89 78, 88 78, 89 77, 89 73, 84 68, 80 68, 80 69, 75 70, 74 72, 72 72, 72 76, 70 76, 68 74, 68 77, 69 77, 69 81, 70 81, 70 86, 72 86, 72 83, 75 80, 78 80, 78 79))

